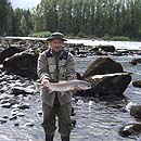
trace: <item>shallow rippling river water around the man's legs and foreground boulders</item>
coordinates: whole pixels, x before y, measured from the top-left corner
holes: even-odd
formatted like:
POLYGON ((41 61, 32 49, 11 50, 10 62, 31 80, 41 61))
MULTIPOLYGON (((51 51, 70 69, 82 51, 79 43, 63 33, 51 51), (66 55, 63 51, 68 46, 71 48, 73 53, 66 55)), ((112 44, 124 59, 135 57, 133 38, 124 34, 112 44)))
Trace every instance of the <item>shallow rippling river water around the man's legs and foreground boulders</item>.
MULTIPOLYGON (((76 68, 82 74, 89 64, 98 56, 76 57, 76 68)), ((141 65, 132 66, 129 61, 134 56, 111 56, 121 63, 125 70, 133 73, 133 79, 141 79, 141 65)), ((72 130, 70 141, 137 141, 141 136, 123 138, 118 134, 118 129, 126 124, 134 123, 136 119, 124 111, 128 102, 141 104, 141 89, 131 85, 124 93, 126 98, 120 101, 104 102, 97 99, 76 98, 74 103, 76 116, 76 127, 72 130)), ((29 110, 24 110, 25 117, 16 120, 0 124, 0 141, 43 141, 44 133, 40 126, 42 117, 37 113, 41 110, 40 95, 18 97, 18 101, 30 103, 29 110), (31 121, 34 127, 24 126, 31 121), (20 127, 14 124, 20 123, 20 127)), ((10 115, 11 111, 0 107, 0 117, 10 115)), ((54 141, 60 141, 60 134, 55 132, 54 141)))

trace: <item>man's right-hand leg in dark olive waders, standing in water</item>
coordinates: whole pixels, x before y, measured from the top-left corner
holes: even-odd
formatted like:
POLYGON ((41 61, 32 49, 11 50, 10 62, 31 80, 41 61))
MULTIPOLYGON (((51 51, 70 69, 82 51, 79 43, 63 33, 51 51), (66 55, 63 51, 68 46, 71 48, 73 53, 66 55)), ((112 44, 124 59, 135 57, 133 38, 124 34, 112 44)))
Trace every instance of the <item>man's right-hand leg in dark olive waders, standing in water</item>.
POLYGON ((72 130, 72 104, 67 103, 57 107, 59 116, 59 131, 61 133, 62 141, 69 141, 72 130))

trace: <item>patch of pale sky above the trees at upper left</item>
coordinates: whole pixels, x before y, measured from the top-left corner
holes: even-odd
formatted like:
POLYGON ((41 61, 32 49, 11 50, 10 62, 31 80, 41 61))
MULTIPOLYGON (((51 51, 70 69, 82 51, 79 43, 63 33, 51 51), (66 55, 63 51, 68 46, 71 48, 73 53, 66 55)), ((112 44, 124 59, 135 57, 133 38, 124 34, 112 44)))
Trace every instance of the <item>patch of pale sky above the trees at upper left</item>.
POLYGON ((41 0, 10 0, 13 8, 31 9, 41 0))

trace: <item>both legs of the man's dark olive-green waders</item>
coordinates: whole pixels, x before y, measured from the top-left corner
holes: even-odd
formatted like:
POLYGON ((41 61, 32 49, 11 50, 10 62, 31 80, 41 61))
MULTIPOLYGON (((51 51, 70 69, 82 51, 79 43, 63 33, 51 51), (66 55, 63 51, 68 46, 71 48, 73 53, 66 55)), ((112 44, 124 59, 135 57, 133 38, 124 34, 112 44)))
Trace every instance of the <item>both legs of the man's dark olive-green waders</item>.
MULTIPOLYGON (((53 107, 42 103, 42 111, 43 111, 43 123, 42 127, 46 132, 46 138, 52 138, 54 136, 55 127, 55 117, 59 117, 59 132, 61 133, 62 141, 64 138, 68 138, 72 130, 72 104, 67 103, 64 105, 60 105, 57 103, 57 98, 55 98, 55 102, 53 107)), ((51 140, 47 140, 51 141, 51 140)))

